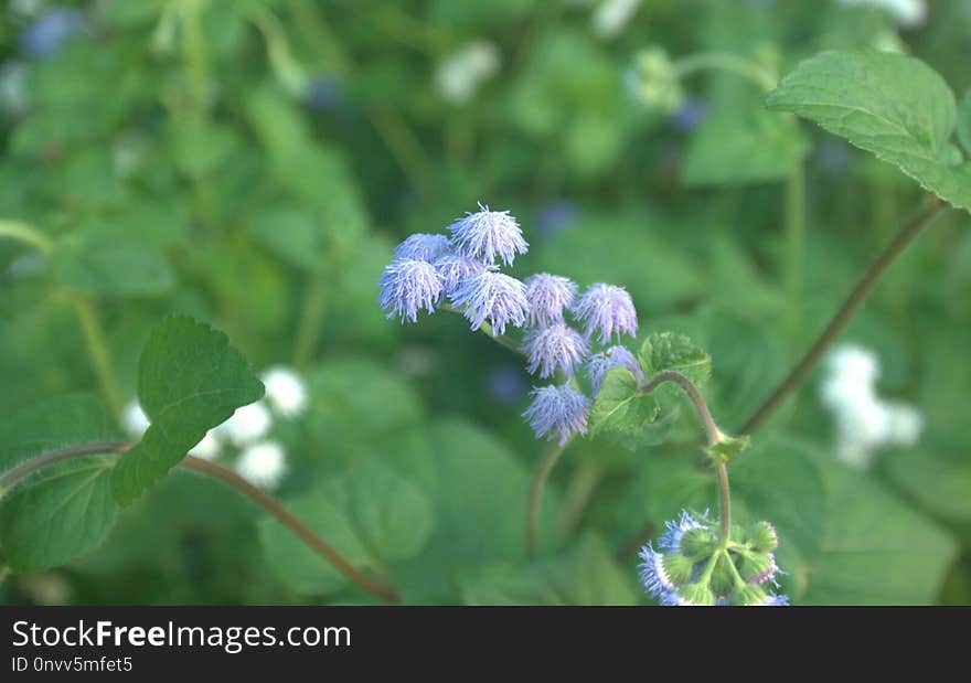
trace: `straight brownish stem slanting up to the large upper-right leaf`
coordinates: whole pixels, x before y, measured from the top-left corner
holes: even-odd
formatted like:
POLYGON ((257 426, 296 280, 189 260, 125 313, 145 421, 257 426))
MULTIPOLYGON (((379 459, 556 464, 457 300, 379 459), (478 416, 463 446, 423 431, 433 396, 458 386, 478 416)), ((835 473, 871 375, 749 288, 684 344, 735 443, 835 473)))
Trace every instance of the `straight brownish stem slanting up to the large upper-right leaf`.
POLYGON ((850 292, 850 296, 843 301, 843 305, 830 320, 826 328, 819 338, 813 342, 802 360, 792 369, 779 386, 766 398, 765 403, 745 420, 740 434, 751 434, 779 407, 782 401, 796 389, 810 371, 815 366, 819 360, 825 353, 833 342, 840 337, 840 333, 850 322, 856 309, 866 301, 866 298, 876 287, 879 279, 884 276, 890 265, 904 252, 904 249, 914 242, 914 238, 927 227, 933 218, 940 215, 943 206, 935 200, 933 204, 919 212, 914 218, 907 222, 904 227, 894 236, 890 243, 884 248, 881 255, 874 260, 866 271, 857 280, 856 286, 850 292))

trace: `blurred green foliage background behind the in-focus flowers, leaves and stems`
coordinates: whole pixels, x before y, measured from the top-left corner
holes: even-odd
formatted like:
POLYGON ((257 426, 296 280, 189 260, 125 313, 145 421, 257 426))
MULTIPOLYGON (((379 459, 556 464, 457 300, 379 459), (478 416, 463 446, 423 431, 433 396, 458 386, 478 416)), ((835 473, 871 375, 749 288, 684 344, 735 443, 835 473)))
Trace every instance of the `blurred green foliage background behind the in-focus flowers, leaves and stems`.
MULTIPOLYGON (((149 330, 186 312, 306 382, 309 409, 273 425, 276 491, 322 534, 343 547, 328 505, 355 477, 420 499, 402 533, 423 533, 361 561, 407 600, 647 604, 638 545, 715 500, 690 412, 657 448, 573 446, 531 563, 533 378, 457 316, 386 320, 377 278, 408 234, 509 210, 531 245, 514 275, 627 287, 641 337, 711 353, 737 429, 921 200, 762 106, 800 60, 854 47, 917 56, 960 97, 971 3, 8 0, 0 218, 55 246, 0 239, 0 416, 89 392, 120 427, 149 330)), ((737 466, 738 515, 779 526, 797 604, 971 602, 969 227, 938 220, 844 334, 909 433, 841 458, 820 369, 737 466)), ((363 599, 302 552, 174 473, 94 553, 4 575, 0 601, 363 599)))

